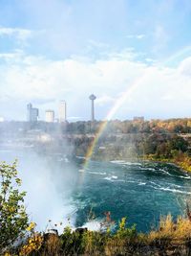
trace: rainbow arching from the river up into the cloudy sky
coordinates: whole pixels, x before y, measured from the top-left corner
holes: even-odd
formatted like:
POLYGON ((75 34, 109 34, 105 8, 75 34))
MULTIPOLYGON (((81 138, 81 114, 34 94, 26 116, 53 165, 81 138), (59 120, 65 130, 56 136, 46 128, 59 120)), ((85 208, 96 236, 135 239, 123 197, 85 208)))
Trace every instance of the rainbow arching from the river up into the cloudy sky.
MULTIPOLYGON (((171 61, 174 61, 178 58, 181 58, 185 54, 188 54, 188 52, 191 52, 191 46, 186 46, 183 49, 181 49, 179 52, 176 52, 173 56, 171 56, 169 58, 166 58, 163 62, 159 63, 159 66, 162 67, 165 64, 170 64, 171 61)), ((93 152, 96 148, 96 144, 97 144, 100 136, 102 135, 103 131, 107 127, 108 121, 111 120, 111 118, 116 114, 118 108, 121 105, 123 105, 126 101, 128 101, 131 94, 138 88, 140 83, 144 80, 146 81, 146 79, 149 78, 149 76, 152 74, 152 71, 153 71, 154 67, 155 66, 148 67, 147 70, 144 72, 144 74, 142 76, 140 76, 138 78, 138 80, 136 80, 131 86, 129 86, 127 88, 127 90, 123 92, 122 96, 117 99, 115 105, 112 107, 110 112, 107 114, 107 116, 105 118, 105 121, 103 121, 101 123, 100 127, 98 128, 98 131, 96 132, 96 136, 95 136, 91 146, 89 147, 89 149, 88 149, 88 151, 85 155, 84 170, 88 167, 91 156, 93 155, 93 152)))

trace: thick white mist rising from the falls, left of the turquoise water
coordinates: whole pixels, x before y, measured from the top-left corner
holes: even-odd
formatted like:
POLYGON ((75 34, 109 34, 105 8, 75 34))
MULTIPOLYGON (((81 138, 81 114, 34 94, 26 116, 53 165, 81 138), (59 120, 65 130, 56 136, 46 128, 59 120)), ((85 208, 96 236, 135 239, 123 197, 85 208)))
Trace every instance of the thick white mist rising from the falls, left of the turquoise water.
MULTIPOLYGON (((5 135, 5 134, 4 134, 5 135)), ((32 148, 32 145, 20 145, 19 140, 28 140, 29 135, 20 139, 2 136, 0 144, 0 161, 11 164, 18 161, 18 176, 22 179, 22 191, 27 192, 25 204, 30 221, 37 224, 37 230, 55 228, 54 224, 62 222, 63 226, 74 225, 74 204, 72 193, 77 181, 77 168, 68 159, 71 148, 59 139, 52 147, 45 143, 32 148), (50 221, 51 220, 51 221, 50 221)), ((27 144, 27 143, 26 143, 27 144)), ((63 227, 57 225, 56 229, 63 227)))

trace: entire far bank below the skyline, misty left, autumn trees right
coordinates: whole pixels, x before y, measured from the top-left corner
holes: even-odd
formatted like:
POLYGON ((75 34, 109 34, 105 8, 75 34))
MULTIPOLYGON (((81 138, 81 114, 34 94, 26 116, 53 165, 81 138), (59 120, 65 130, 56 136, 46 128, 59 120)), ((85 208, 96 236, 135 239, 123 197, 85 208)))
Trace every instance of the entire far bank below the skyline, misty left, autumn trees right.
MULTIPOLYGON (((70 158, 85 156, 104 124, 103 121, 63 124, 4 122, 0 124, 0 131, 2 139, 13 137, 34 147, 39 153, 54 151, 68 154, 70 158)), ((96 138, 92 157, 106 161, 138 158, 165 160, 190 171, 191 119, 109 121, 106 129, 96 138)))

